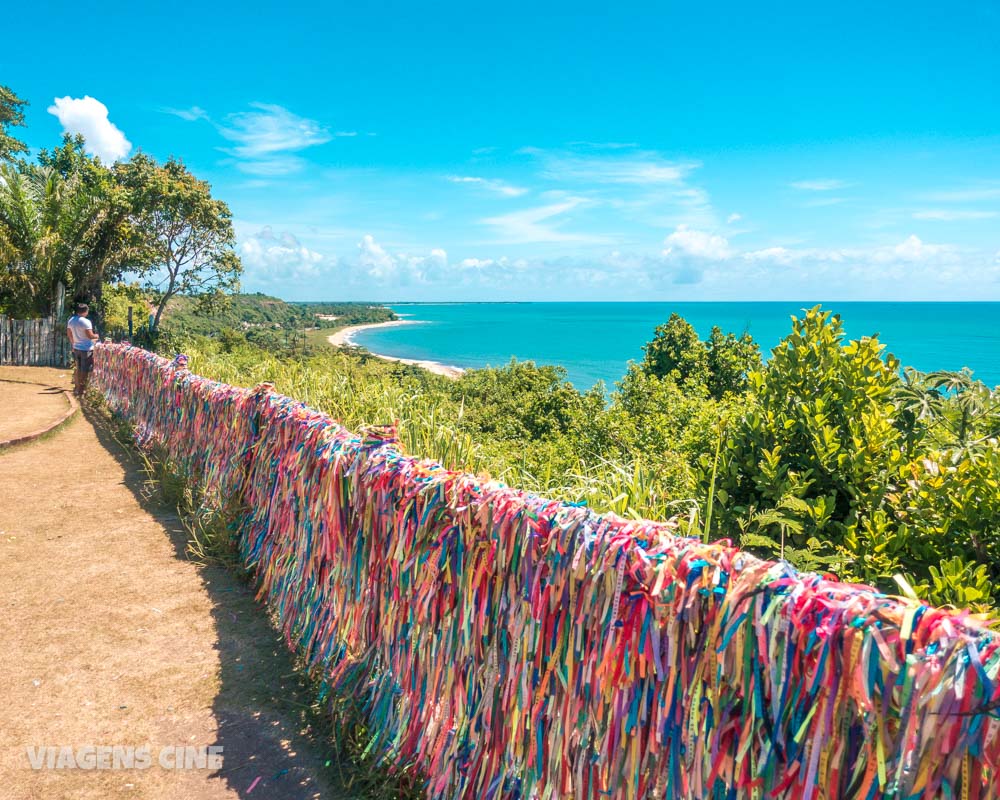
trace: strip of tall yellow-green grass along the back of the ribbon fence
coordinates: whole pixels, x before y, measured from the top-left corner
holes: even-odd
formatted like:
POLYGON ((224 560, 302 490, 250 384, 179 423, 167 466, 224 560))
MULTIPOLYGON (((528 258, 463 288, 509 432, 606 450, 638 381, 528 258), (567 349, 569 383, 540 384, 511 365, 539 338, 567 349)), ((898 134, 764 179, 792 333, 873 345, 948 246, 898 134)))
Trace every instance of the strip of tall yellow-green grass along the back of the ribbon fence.
POLYGON ((189 344, 186 352, 193 372, 236 386, 272 383, 275 391, 326 412, 350 429, 395 424, 406 453, 451 469, 625 517, 700 517, 690 513, 697 508, 695 500, 678 500, 665 488, 677 480, 665 480, 662 466, 654 469, 642 461, 619 461, 601 453, 567 454, 558 447, 533 448, 529 459, 517 443, 473 436, 463 429, 465 408, 448 379, 416 367, 339 351, 298 360, 249 348, 224 353, 208 342, 189 344))

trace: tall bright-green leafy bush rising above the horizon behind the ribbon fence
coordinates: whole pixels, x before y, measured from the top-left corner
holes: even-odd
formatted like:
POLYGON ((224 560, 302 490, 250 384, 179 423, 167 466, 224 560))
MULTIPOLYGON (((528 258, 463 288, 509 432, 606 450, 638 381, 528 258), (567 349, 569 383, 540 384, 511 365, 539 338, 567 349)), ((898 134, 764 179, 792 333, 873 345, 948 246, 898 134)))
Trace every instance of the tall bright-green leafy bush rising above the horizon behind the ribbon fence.
POLYGON ((840 318, 819 307, 793 320, 767 366, 751 373, 754 403, 722 449, 719 498, 733 527, 790 509, 801 514, 792 545, 826 542, 861 577, 900 567, 905 543, 893 538, 886 506, 906 463, 899 363, 883 351, 874 337, 845 343, 840 318))

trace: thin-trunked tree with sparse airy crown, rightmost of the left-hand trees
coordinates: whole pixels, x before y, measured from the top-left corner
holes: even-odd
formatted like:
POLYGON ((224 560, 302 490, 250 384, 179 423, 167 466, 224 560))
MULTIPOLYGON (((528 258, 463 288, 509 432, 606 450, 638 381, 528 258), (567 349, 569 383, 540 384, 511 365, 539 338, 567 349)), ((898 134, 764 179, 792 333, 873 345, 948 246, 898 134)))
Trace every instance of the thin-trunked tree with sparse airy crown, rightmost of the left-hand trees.
POLYGON ((158 329, 163 310, 177 295, 205 295, 239 287, 242 266, 233 250, 232 214, 211 187, 180 161, 157 164, 138 154, 121 165, 130 193, 132 222, 150 254, 143 270, 153 294, 158 329))

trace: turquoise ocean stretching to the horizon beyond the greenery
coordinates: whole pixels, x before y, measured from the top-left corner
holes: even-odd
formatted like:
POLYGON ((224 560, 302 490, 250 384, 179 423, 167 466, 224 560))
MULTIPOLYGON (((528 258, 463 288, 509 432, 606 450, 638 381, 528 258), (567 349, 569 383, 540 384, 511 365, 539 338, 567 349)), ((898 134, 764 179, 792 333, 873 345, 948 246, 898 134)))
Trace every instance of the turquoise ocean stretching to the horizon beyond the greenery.
MULTIPOLYGON (((749 331, 765 355, 791 331, 792 315, 816 303, 399 303, 413 325, 369 329, 354 341, 373 353, 456 367, 510 358, 565 367, 580 389, 608 389, 657 325, 677 312, 705 338, 713 325, 749 331)), ((879 334, 903 366, 923 371, 970 367, 1000 384, 1000 303, 828 303, 850 338, 879 334)))

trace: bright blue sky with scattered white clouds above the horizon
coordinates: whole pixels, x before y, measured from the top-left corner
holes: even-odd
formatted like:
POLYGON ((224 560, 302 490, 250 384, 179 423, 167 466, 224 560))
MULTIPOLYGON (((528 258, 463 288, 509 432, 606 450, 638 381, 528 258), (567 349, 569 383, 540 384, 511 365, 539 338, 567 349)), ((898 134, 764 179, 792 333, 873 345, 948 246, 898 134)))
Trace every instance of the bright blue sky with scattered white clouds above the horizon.
POLYGON ((993 0, 46 9, 24 138, 182 157, 251 291, 1000 300, 993 0))

